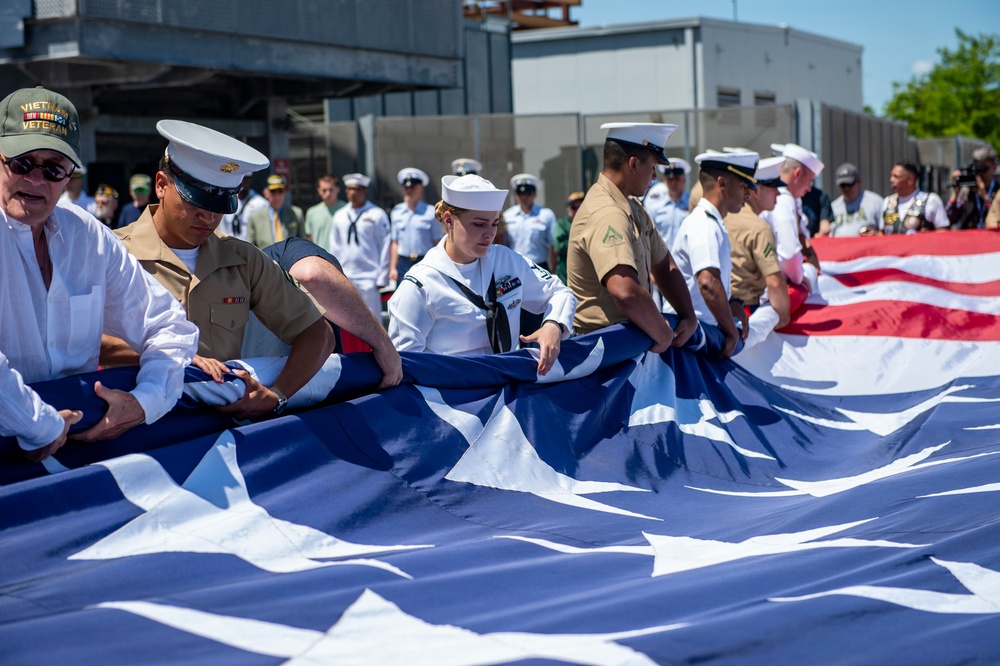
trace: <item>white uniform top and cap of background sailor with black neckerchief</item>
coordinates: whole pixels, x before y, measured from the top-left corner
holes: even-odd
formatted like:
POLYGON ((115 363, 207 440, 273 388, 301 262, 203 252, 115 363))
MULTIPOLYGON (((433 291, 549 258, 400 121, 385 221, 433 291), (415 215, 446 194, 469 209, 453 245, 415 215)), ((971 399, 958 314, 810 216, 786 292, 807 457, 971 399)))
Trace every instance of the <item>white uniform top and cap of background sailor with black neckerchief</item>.
MULTIPOLYGON (((343 181, 345 187, 368 187, 370 179, 348 174, 343 181)), ((348 204, 333 214, 330 253, 376 316, 382 312, 378 290, 389 283, 390 240, 389 218, 371 201, 361 208, 348 204)))

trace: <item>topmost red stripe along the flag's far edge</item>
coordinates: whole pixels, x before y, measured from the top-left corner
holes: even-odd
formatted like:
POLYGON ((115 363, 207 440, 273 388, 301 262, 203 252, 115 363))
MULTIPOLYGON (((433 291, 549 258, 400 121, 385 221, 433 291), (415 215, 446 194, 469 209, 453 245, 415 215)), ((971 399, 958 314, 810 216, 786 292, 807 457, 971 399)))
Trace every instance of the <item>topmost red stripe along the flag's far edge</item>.
POLYGON ((893 255, 963 256, 1000 252, 1000 233, 987 229, 942 231, 902 236, 812 239, 820 262, 851 261, 862 257, 893 255))

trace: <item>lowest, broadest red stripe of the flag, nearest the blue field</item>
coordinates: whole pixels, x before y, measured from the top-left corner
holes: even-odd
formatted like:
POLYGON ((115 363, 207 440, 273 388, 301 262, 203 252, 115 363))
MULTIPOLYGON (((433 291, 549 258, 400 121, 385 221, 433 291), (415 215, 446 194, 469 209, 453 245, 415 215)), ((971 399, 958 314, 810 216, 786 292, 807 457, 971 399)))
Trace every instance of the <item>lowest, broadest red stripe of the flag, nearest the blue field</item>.
POLYGON ((1000 342, 1000 316, 906 301, 806 304, 780 332, 1000 342))

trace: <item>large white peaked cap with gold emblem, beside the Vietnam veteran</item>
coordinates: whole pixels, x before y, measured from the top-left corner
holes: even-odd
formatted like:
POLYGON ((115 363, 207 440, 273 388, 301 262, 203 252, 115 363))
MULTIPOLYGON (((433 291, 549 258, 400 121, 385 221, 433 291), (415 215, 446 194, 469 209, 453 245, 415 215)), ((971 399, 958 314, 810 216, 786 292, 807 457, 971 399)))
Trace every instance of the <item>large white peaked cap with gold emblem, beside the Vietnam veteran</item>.
POLYGON ((187 175, 215 187, 238 188, 243 176, 266 169, 267 157, 255 148, 216 132, 183 120, 161 120, 156 131, 167 144, 166 155, 187 175))

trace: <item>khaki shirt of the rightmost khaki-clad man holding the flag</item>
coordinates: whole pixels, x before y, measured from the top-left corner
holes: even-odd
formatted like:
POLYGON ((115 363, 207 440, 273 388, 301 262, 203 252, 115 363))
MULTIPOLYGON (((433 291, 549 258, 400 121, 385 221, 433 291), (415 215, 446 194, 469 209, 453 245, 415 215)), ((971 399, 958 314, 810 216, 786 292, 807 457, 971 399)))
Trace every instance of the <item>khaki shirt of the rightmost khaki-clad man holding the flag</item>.
POLYGON ((732 295, 747 305, 757 305, 767 288, 764 278, 781 272, 774 232, 750 204, 726 216, 726 231, 733 246, 732 295))

